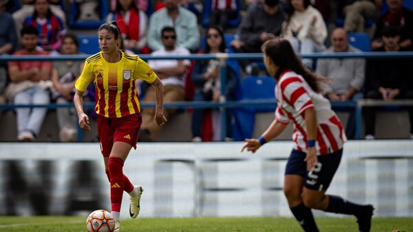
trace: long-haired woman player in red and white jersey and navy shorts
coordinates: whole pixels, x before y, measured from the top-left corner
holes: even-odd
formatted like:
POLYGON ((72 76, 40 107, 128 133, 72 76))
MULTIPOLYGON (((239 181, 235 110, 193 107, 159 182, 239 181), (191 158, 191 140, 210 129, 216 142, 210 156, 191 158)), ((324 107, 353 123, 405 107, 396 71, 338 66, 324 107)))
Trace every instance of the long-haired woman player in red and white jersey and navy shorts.
POLYGON ((359 231, 370 231, 372 205, 357 205, 326 190, 339 167, 346 135, 330 103, 319 92, 319 80, 303 67, 288 40, 262 45, 264 64, 277 80, 275 119, 258 139, 246 139, 242 151, 256 152, 293 122, 295 146, 284 176, 288 206, 304 231, 319 231, 311 209, 357 217, 359 231))

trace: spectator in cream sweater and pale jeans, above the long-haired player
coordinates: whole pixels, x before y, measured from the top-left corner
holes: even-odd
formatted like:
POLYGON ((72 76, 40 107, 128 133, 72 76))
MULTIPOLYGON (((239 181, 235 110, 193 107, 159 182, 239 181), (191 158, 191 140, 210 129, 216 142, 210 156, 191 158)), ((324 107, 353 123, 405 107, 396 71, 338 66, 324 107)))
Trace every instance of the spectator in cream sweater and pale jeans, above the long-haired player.
MULTIPOLYGON (((320 12, 310 5, 310 0, 288 0, 287 19, 282 36, 290 41, 296 53, 310 54, 324 50, 327 27, 320 12)), ((302 59, 307 69, 313 69, 312 59, 302 59)))

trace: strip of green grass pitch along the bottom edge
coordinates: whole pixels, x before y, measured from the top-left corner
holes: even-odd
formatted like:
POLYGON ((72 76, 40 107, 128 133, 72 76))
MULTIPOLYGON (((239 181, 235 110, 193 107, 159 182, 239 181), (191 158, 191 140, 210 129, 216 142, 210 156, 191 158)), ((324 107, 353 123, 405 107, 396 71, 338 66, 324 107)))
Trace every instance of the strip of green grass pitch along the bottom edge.
MULTIPOLYGON (((0 231, 86 231, 85 217, 0 217, 0 231)), ((355 218, 316 218, 320 231, 357 231, 355 218)), ((121 221, 127 231, 301 231, 293 218, 138 218, 121 221)), ((373 218, 372 230, 413 231, 413 218, 373 218)))

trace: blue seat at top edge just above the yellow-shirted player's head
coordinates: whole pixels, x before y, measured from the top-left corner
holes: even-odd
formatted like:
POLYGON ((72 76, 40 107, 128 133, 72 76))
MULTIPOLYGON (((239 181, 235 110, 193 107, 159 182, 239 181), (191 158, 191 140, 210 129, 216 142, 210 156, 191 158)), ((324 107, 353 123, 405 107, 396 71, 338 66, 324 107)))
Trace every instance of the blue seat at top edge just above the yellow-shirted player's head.
POLYGON ((99 1, 98 5, 98 14, 100 16, 100 20, 98 21, 78 21, 79 6, 76 1, 72 1, 70 3, 70 16, 69 16, 69 27, 72 29, 98 29, 100 25, 106 22, 106 16, 109 14, 109 2, 108 1, 99 1))

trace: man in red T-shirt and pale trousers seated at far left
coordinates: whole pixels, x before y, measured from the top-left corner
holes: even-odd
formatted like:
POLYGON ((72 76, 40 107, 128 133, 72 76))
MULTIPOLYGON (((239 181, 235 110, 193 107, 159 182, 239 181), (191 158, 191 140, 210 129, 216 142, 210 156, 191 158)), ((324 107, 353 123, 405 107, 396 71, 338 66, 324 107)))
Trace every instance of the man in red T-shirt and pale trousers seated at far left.
MULTIPOLYGON (((13 56, 47 55, 47 51, 36 49, 39 32, 36 27, 29 25, 21 30, 23 49, 14 52, 13 56)), ((43 83, 50 80, 52 62, 48 61, 10 61, 8 72, 11 83, 6 95, 16 105, 49 104, 50 92, 43 88, 43 83)), ((47 108, 17 108, 17 140, 34 141, 39 135, 45 119, 47 108)))

